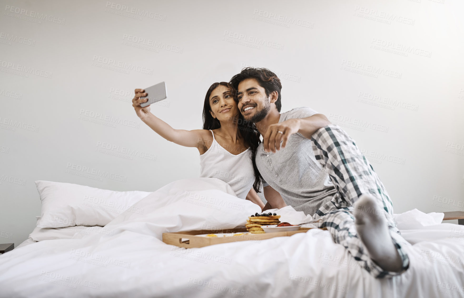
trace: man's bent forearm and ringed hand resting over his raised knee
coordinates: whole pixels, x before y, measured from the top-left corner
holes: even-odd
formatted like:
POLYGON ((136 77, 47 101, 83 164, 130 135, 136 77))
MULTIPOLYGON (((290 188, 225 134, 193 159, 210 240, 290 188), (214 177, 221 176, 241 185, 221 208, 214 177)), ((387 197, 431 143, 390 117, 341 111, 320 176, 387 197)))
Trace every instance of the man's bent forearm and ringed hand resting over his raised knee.
POLYGON ((287 140, 294 133, 301 133, 303 137, 311 139, 316 130, 331 124, 323 114, 314 114, 306 118, 292 118, 280 123, 271 124, 263 136, 265 152, 276 152, 287 145, 287 140), (280 133, 279 133, 280 132, 280 133))

